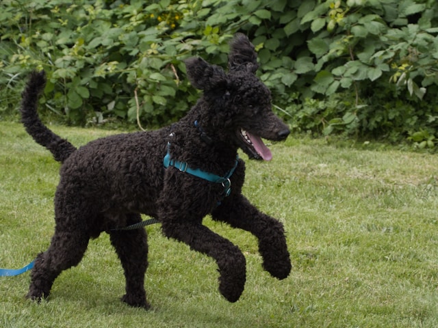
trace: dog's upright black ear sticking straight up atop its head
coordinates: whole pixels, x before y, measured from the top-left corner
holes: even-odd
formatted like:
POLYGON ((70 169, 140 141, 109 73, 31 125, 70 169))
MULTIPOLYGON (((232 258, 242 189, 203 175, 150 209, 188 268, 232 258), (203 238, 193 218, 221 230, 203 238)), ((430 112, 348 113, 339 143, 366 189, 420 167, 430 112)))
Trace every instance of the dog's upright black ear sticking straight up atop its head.
POLYGON ((228 68, 229 70, 246 70, 252 73, 255 73, 259 68, 254 46, 242 33, 236 33, 230 42, 228 68))

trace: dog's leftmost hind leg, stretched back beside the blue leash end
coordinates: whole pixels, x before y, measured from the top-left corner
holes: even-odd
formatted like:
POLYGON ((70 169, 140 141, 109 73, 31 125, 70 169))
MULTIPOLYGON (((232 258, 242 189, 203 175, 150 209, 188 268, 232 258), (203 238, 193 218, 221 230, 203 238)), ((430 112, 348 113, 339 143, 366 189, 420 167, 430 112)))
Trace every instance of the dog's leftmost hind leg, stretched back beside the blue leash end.
POLYGON ((27 298, 39 301, 48 297, 55 278, 81 261, 89 239, 90 236, 77 227, 68 229, 65 224, 58 224, 49 249, 38 254, 35 260, 27 298))

